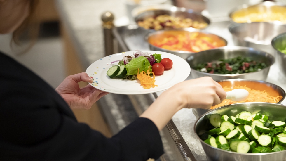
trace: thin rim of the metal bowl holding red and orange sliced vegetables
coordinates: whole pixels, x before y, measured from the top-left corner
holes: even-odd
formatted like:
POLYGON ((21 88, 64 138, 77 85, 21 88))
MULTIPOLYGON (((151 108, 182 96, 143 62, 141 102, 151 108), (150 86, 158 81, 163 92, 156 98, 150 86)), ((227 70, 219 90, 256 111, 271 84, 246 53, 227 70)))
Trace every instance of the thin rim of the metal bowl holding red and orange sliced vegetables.
MULTIPOLYGON (((149 43, 149 41, 148 41, 148 38, 149 38, 151 35, 158 34, 159 32, 165 32, 165 31, 188 31, 188 32, 201 32, 201 33, 204 33, 204 34, 212 34, 212 35, 215 35, 215 36, 219 37, 219 39, 222 39, 222 40, 225 42, 225 46, 227 45, 226 39, 224 39, 224 38, 222 38, 222 37, 220 37, 220 36, 218 36, 218 35, 216 35, 216 34, 213 34, 213 33, 210 33, 210 32, 205 32, 205 31, 201 31, 201 30, 198 30, 198 29, 195 29, 195 30, 193 30, 193 29, 194 29, 194 28, 191 28, 191 29, 190 29, 190 28, 184 28, 184 29, 158 30, 158 31, 156 31, 156 32, 150 32, 150 33, 148 33, 148 34, 145 36, 145 41, 146 41, 149 45, 151 45, 151 46, 153 46, 153 47, 155 47, 155 48, 158 48, 158 49, 160 49, 160 50, 164 50, 164 51, 166 51, 166 52, 176 52, 176 53, 182 53, 182 54, 196 54, 195 52, 191 52, 191 51, 164 49, 164 48, 161 48, 161 47, 158 47, 158 46, 154 46, 154 45, 152 45, 151 43, 149 43)), ((222 46, 222 47, 225 47, 225 46, 222 46)), ((217 48, 214 48, 214 49, 217 49, 217 48)), ((212 49, 209 49, 209 50, 212 50, 212 49)), ((204 51, 205 51, 205 50, 204 50, 204 51)), ((202 51, 200 51, 200 52, 202 52, 202 51)), ((197 52, 197 53, 199 53, 199 52, 197 52)))

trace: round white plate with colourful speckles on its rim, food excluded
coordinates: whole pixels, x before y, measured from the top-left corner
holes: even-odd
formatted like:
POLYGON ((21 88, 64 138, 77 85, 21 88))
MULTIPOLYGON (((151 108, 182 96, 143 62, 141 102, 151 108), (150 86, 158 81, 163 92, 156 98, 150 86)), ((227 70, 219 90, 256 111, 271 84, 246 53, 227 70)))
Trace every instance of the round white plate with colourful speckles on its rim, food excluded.
POLYGON ((109 78, 106 74, 107 70, 118 64, 118 62, 112 64, 110 62, 123 59, 123 54, 132 55, 133 52, 136 53, 136 51, 128 51, 113 54, 92 63, 86 69, 86 73, 94 80, 90 84, 97 89, 114 94, 149 94, 169 89, 173 85, 183 82, 190 75, 191 67, 183 58, 161 51, 143 51, 162 54, 162 59, 170 58, 173 61, 173 67, 170 70, 165 70, 163 75, 155 75, 155 85, 158 85, 158 87, 144 89, 138 79, 131 81, 129 79, 109 78))

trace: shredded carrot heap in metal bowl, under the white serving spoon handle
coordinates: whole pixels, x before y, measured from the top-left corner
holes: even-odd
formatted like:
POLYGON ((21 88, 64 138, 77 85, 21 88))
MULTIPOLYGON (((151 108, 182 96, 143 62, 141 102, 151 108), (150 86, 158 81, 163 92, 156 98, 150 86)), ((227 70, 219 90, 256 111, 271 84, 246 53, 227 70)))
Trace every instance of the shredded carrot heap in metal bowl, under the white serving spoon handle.
POLYGON ((233 103, 242 103, 242 102, 270 102, 270 103, 277 103, 282 99, 282 96, 270 96, 265 90, 259 91, 248 88, 245 86, 234 86, 234 88, 225 86, 224 91, 231 91, 233 89, 245 89, 249 92, 248 98, 244 101, 231 101, 231 100, 224 100, 222 103, 212 106, 211 109, 218 108, 224 105, 230 105, 233 103))

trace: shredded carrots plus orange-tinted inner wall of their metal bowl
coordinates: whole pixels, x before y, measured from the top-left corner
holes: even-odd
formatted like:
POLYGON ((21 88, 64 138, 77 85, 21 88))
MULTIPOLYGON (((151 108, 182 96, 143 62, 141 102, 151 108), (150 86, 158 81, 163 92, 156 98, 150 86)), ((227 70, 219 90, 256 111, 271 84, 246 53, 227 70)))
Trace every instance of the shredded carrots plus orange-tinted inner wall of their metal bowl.
POLYGON ((219 82, 224 88, 224 91, 231 91, 233 89, 245 89, 249 92, 248 98, 245 101, 231 101, 223 100, 222 103, 212 106, 210 109, 218 108, 224 105, 243 102, 269 102, 278 103, 283 97, 280 96, 277 90, 262 82, 254 81, 237 81, 237 82, 219 82))

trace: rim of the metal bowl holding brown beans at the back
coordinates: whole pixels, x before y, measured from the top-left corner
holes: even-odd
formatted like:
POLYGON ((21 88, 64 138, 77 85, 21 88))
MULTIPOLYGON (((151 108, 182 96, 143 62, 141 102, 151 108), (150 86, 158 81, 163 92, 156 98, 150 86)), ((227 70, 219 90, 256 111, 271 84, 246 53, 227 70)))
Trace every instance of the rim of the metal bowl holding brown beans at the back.
MULTIPOLYGON (((141 16, 141 15, 143 15, 143 14, 146 13, 146 12, 152 12, 152 11, 171 11, 171 12, 177 12, 177 11, 180 11, 180 12, 187 12, 187 13, 199 15, 199 16, 202 16, 203 19, 207 20, 207 22, 205 22, 205 23, 207 23, 207 26, 206 26, 205 28, 197 29, 197 30, 203 30, 203 29, 206 29, 207 27, 210 26, 210 23, 211 23, 210 19, 207 18, 207 17, 205 17, 205 16, 203 16, 203 15, 200 14, 199 12, 195 12, 195 11, 193 11, 192 9, 188 9, 188 8, 184 8, 184 7, 176 7, 176 6, 173 6, 172 8, 176 8, 176 10, 172 11, 172 10, 168 10, 168 9, 151 9, 151 10, 143 11, 142 13, 138 14, 138 15, 134 18, 134 20, 135 20, 136 24, 138 25, 138 23, 137 23, 137 22, 138 22, 138 17, 141 16)), ((139 25, 138 25, 138 27, 140 27, 140 28, 142 28, 142 29, 144 29, 144 30, 147 30, 147 31, 151 31, 151 32, 160 31, 160 30, 155 30, 155 29, 145 29, 144 27, 141 27, 141 26, 139 26, 139 25)), ((196 29, 196 28, 193 28, 193 27, 184 27, 184 28, 178 28, 178 29, 196 29)), ((162 30, 166 30, 166 29, 162 29, 162 30)))

